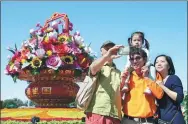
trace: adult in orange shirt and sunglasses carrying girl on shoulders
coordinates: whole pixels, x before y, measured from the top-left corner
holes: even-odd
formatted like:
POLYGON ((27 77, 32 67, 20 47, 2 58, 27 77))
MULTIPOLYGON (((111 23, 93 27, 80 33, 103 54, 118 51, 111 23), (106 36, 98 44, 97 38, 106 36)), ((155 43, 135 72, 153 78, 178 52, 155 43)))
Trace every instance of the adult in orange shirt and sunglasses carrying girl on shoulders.
MULTIPOLYGON (((148 73, 142 70, 147 61, 147 54, 144 50, 133 48, 130 51, 130 62, 134 71, 129 79, 129 92, 123 104, 124 117, 122 124, 154 124, 156 113, 155 98, 162 98, 163 90, 159 85, 149 79, 148 73), (146 87, 149 87, 152 95, 144 94, 146 87)), ((159 79, 157 74, 157 79, 159 79)), ((160 79, 161 80, 161 79, 160 79)), ((159 81, 157 81, 159 82, 159 81)))

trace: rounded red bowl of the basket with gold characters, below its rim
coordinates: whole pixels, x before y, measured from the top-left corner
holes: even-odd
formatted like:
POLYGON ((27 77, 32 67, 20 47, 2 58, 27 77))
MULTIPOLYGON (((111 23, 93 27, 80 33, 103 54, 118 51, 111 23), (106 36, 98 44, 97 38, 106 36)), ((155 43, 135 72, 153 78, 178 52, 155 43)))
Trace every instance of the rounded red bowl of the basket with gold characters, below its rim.
POLYGON ((66 81, 32 82, 25 90, 26 96, 37 107, 61 108, 69 107, 74 102, 79 86, 66 81))

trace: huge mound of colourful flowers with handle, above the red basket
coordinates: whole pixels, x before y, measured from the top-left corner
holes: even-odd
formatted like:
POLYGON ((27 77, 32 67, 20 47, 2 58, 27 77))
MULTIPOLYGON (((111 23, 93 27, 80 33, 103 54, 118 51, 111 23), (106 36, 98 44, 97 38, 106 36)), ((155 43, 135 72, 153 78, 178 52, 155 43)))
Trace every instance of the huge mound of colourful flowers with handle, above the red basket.
POLYGON ((86 73, 95 53, 90 44, 84 44, 80 32, 69 34, 72 30, 73 24, 66 14, 54 13, 44 26, 38 23, 20 49, 16 45, 14 49, 8 48, 13 56, 8 57, 5 74, 16 82, 24 70, 29 70, 31 75, 44 69, 52 69, 55 74, 64 69, 74 70, 79 72, 75 77, 86 73))

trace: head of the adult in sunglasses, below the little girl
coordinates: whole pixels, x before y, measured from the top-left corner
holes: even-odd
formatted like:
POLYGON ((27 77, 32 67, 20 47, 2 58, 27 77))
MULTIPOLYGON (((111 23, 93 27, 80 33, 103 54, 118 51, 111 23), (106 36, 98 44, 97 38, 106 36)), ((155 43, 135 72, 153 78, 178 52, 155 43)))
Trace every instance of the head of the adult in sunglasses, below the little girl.
POLYGON ((132 47, 129 53, 131 66, 135 71, 141 71, 141 68, 147 62, 147 54, 141 48, 132 47))

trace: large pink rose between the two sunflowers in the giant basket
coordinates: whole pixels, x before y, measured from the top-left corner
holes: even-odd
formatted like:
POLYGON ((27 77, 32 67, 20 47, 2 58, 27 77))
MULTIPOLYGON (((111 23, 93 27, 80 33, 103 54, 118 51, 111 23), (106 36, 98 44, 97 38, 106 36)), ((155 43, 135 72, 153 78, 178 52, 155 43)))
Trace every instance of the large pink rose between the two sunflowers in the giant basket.
POLYGON ((54 70, 57 70, 59 66, 61 66, 62 61, 60 57, 52 55, 46 60, 46 65, 48 68, 52 68, 54 70))

